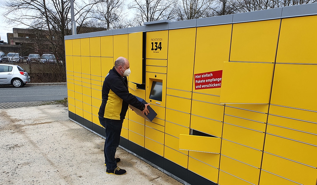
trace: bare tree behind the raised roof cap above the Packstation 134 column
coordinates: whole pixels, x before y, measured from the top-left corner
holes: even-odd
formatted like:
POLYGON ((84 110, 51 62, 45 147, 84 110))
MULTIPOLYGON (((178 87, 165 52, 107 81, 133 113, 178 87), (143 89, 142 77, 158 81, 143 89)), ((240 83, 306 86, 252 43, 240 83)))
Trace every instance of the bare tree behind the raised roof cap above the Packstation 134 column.
POLYGON ((175 7, 175 0, 133 0, 129 5, 129 9, 136 11, 134 21, 140 26, 144 22, 174 19, 175 7))

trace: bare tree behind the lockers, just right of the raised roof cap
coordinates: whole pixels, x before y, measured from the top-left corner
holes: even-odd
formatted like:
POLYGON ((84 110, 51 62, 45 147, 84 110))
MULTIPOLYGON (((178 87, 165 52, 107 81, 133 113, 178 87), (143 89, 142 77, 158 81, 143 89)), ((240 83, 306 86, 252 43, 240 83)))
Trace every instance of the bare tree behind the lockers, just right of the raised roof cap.
POLYGON ((212 0, 181 0, 177 6, 177 20, 208 17, 211 4, 212 0))

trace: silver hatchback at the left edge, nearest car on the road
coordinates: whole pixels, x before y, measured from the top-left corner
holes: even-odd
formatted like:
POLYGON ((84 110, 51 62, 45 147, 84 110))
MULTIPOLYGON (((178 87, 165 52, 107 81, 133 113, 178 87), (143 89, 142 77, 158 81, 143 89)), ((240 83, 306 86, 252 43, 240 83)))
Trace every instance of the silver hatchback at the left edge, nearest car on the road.
POLYGON ((18 65, 0 64, 0 84, 22 87, 30 82, 29 74, 18 65))

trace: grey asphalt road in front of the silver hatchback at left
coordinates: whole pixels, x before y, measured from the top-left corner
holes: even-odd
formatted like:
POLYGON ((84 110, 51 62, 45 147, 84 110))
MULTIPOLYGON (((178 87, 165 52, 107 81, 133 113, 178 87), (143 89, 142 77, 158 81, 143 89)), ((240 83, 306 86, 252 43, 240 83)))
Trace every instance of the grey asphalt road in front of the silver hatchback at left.
POLYGON ((14 88, 0 86, 0 102, 54 101, 67 97, 66 85, 41 85, 14 88))

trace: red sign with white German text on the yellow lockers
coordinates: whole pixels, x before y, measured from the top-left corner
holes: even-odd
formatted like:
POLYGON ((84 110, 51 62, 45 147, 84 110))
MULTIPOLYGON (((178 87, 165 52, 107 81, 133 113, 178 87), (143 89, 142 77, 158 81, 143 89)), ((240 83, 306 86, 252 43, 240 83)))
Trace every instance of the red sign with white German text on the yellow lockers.
POLYGON ((221 87, 222 70, 195 74, 195 90, 221 87))

